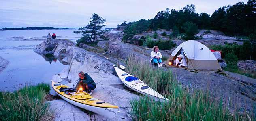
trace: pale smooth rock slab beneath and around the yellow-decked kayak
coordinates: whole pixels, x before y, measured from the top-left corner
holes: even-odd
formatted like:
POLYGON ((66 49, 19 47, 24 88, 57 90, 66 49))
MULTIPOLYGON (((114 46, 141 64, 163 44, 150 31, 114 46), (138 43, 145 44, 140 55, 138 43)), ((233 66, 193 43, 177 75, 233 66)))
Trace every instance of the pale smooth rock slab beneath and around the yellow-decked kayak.
MULTIPOLYGON (((53 49, 53 53, 55 53, 55 51, 61 52, 62 49, 58 48, 58 45, 67 45, 58 43, 54 44, 57 45, 57 47, 55 46, 56 49, 53 49)), ((97 84, 96 89, 92 91, 92 96, 110 104, 119 106, 120 113, 118 113, 113 119, 102 117, 95 113, 90 113, 90 115, 88 115, 80 108, 77 108, 64 100, 53 100, 49 102, 51 103, 51 108, 53 108, 56 113, 55 121, 81 121, 92 119, 104 121, 130 121, 130 100, 136 99, 139 96, 124 89, 124 85, 119 78, 113 75, 115 72, 113 69, 114 63, 83 48, 75 46, 64 47, 66 47, 66 50, 61 52, 61 54, 57 52, 57 55, 65 55, 64 58, 66 58, 69 67, 63 69, 60 74, 54 75, 51 81, 59 82, 74 88, 77 84, 77 79, 79 79, 79 71, 88 73, 97 84)), ((56 96, 53 89, 50 90, 50 94, 56 96)))

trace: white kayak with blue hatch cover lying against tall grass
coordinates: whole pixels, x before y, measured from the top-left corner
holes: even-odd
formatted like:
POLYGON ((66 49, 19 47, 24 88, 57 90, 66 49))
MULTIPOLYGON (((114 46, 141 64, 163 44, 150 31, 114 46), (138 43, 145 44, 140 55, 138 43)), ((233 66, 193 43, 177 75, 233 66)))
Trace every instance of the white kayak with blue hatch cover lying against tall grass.
POLYGON ((125 71, 119 69, 118 67, 114 66, 115 71, 125 86, 128 88, 139 92, 141 94, 153 97, 156 100, 168 100, 167 98, 164 98, 161 94, 150 88, 147 84, 145 84, 143 81, 138 79, 137 77, 134 77, 133 75, 130 75, 129 73, 126 73, 125 71))

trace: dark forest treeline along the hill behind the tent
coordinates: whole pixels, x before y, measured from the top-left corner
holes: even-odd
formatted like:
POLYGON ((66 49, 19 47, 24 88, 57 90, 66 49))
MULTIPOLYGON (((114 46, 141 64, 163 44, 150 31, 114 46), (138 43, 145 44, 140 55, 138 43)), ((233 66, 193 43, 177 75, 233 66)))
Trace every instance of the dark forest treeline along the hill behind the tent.
MULTIPOLYGON (((174 29, 176 26, 180 33, 186 33, 183 25, 186 22, 194 23, 198 29, 215 29, 223 31, 226 35, 249 36, 256 41, 256 13, 255 0, 248 0, 247 4, 238 2, 231 6, 223 6, 215 10, 212 15, 195 13, 194 4, 186 5, 181 10, 159 11, 149 22, 149 30, 174 29)), ((177 34, 173 33, 174 37, 177 34)), ((192 36, 184 36, 186 40, 192 36)))

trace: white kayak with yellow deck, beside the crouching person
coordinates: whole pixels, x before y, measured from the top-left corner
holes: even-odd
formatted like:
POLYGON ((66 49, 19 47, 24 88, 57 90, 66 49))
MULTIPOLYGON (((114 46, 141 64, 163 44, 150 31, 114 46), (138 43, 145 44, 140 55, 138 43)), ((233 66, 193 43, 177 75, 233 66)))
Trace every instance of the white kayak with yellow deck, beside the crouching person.
POLYGON ((53 81, 51 86, 62 99, 85 110, 92 111, 109 118, 113 118, 117 115, 117 113, 119 113, 118 106, 114 106, 97 98, 93 98, 85 92, 75 92, 69 95, 64 92, 60 92, 59 90, 61 87, 67 86, 55 83, 53 81))

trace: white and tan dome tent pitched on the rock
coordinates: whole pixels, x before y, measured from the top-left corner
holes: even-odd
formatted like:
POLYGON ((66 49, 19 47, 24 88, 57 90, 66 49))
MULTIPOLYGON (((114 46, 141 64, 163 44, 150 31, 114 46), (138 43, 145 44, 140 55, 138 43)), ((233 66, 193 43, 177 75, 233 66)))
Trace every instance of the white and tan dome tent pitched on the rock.
POLYGON ((200 42, 189 40, 181 43, 171 54, 168 64, 171 60, 175 60, 177 55, 182 54, 185 58, 188 69, 195 71, 218 71, 221 70, 220 64, 211 50, 200 42))

